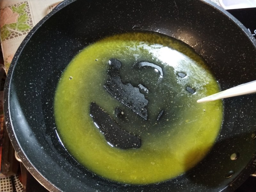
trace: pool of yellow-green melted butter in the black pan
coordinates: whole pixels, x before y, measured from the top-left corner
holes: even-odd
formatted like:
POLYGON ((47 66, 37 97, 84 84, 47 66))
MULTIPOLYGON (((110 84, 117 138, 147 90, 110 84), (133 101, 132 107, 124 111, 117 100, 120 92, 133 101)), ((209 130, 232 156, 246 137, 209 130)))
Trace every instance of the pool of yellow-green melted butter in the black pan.
POLYGON ((119 34, 89 45, 70 62, 56 89, 54 116, 64 146, 90 171, 127 184, 156 183, 188 171, 209 152, 220 131, 222 103, 196 100, 216 92, 216 80, 187 45, 156 33, 119 34), (124 82, 148 88, 147 121, 104 88, 111 58, 121 61, 124 82), (132 68, 141 61, 161 66, 163 78, 153 68, 132 68), (187 76, 182 78, 178 72, 187 76), (189 93, 186 86, 196 92, 189 93), (141 147, 111 147, 89 115, 91 102, 124 130, 139 135, 141 147), (115 116, 116 107, 124 109, 127 121, 115 116))

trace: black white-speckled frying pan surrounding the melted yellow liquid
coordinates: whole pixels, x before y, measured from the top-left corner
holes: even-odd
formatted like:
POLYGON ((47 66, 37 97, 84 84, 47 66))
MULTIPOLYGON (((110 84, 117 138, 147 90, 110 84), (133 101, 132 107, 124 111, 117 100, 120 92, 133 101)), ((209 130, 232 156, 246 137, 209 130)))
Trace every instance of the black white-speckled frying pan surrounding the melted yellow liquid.
POLYGON ((7 75, 4 115, 21 161, 50 191, 234 191, 255 171, 255 94, 225 99, 222 129, 212 150, 193 169, 165 182, 126 185, 106 180, 89 172, 61 144, 53 97, 63 70, 87 45, 135 30, 191 46, 222 90, 255 80, 255 39, 209 1, 67 0, 31 30, 7 75), (234 153, 239 157, 231 160, 234 153))

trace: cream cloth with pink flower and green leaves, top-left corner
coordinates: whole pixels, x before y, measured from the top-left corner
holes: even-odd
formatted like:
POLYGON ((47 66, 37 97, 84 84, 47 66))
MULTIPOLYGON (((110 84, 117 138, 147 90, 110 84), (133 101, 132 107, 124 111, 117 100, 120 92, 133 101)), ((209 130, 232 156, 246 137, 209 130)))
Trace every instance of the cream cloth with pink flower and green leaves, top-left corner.
POLYGON ((0 0, 0 34, 7 73, 28 32, 62 0, 0 0))

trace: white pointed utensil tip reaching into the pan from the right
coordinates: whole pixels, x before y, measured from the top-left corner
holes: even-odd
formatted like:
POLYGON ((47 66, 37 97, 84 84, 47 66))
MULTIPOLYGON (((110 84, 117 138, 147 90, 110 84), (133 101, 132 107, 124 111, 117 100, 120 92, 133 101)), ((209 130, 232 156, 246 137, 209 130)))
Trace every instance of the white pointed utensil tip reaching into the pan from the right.
POLYGON ((256 93, 256 81, 241 84, 236 87, 227 89, 225 91, 218 92, 213 95, 204 97, 202 99, 197 100, 197 103, 214 101, 214 100, 218 100, 218 99, 224 99, 224 98, 234 97, 234 96, 239 96, 239 95, 246 95, 246 94, 250 94, 250 93, 256 93))

